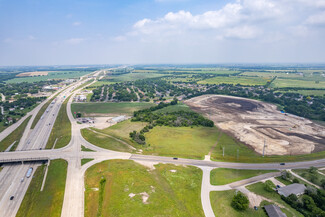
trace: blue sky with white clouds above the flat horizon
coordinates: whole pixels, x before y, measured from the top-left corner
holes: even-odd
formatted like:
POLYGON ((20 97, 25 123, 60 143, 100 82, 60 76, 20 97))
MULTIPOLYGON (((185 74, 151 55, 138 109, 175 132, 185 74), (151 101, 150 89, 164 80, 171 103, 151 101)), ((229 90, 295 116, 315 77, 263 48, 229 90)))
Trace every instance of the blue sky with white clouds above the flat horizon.
POLYGON ((324 63, 325 0, 0 0, 0 65, 324 63))

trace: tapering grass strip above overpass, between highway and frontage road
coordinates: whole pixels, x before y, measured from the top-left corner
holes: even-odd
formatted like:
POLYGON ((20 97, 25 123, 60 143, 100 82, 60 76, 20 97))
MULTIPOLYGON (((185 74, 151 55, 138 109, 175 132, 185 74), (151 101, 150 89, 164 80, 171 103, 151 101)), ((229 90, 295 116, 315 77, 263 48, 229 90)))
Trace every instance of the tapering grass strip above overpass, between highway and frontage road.
POLYGON ((67 114, 67 104, 70 97, 68 97, 63 103, 56 117, 53 129, 51 131, 49 140, 46 144, 46 149, 51 149, 55 144, 55 148, 62 148, 69 144, 71 140, 71 123, 67 114))

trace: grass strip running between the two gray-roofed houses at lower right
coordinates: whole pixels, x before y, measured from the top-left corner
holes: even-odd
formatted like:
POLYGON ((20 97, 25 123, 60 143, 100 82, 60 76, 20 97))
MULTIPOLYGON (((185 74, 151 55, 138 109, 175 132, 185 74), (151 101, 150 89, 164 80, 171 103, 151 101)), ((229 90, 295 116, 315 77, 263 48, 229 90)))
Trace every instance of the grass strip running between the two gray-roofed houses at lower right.
POLYGON ((264 189, 264 183, 262 182, 258 182, 249 186, 246 186, 246 188, 251 191, 254 192, 255 194, 258 194, 260 196, 263 196, 267 199, 270 199, 276 203, 279 203, 281 205, 283 205, 285 207, 285 209, 281 209, 288 217, 303 217, 303 215, 301 213, 299 213, 298 211, 296 211, 295 209, 291 208, 290 205, 288 205, 286 202, 284 202, 280 195, 273 191, 273 192, 268 192, 264 189))

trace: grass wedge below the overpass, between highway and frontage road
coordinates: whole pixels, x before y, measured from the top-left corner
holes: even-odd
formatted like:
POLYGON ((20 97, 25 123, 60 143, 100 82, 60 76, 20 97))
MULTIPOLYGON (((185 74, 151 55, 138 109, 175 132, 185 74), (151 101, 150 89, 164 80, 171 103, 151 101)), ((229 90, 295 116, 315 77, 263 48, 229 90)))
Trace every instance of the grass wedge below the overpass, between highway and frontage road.
POLYGON ((42 192, 40 189, 45 165, 38 167, 19 208, 17 217, 61 216, 67 166, 67 162, 62 159, 51 161, 42 192))

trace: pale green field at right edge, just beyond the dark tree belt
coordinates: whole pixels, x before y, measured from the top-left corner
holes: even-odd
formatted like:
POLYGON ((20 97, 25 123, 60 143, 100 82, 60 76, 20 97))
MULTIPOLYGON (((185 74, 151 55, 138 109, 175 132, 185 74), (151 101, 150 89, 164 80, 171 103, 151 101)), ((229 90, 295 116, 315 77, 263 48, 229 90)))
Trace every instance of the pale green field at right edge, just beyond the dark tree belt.
POLYGON ((325 89, 325 81, 307 81, 307 80, 296 80, 296 79, 276 79, 272 82, 272 87, 283 88, 283 87, 299 87, 299 88, 319 88, 325 89))

